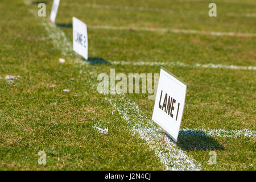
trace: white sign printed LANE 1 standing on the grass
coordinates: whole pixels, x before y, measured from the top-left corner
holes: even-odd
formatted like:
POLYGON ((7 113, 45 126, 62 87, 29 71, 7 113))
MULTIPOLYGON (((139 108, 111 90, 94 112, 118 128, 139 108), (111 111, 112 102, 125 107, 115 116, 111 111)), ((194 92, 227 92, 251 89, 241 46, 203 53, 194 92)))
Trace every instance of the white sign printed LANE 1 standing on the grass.
POLYGON ((161 67, 152 120, 177 142, 187 84, 161 67))

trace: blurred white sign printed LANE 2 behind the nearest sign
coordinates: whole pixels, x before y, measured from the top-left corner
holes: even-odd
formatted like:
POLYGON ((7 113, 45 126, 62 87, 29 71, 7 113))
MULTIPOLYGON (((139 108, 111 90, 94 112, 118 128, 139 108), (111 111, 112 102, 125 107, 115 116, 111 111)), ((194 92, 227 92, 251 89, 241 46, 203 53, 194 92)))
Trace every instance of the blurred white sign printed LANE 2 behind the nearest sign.
POLYGON ((73 17, 73 50, 88 60, 87 26, 75 17, 73 17))

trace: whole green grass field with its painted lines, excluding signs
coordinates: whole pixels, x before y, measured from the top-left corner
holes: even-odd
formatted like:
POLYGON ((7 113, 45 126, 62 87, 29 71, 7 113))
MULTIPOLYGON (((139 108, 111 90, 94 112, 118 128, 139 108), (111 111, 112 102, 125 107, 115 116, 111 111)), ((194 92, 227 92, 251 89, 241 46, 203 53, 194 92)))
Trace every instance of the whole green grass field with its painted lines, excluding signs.
POLYGON ((43 2, 46 17, 40 1, 0 3, 1 170, 256 169, 255 1, 213 1, 209 17, 212 1, 61 0, 55 24, 43 2), (72 51, 72 16, 88 26, 88 61, 72 51), (148 94, 97 92, 100 73, 160 64, 187 83, 177 143, 161 144, 148 94))

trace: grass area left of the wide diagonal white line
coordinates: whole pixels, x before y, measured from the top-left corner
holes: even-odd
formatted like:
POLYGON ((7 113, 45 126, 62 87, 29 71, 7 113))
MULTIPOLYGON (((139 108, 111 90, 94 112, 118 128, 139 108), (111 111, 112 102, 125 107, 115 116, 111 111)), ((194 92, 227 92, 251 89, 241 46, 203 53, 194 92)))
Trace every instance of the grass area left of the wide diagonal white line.
MULTIPOLYGON (((9 6, 6 1, 1 8, 9 6)), ((40 19, 24 8, 22 1, 13 2, 5 16, 19 18, 2 27, 0 168, 164 169, 147 143, 131 136, 126 122, 90 87, 89 72, 81 76, 80 64, 59 63, 60 51, 51 40, 41 40, 47 35, 40 19), (20 78, 8 84, 6 75, 20 78), (108 135, 97 133, 94 124, 108 127, 108 135), (46 152, 46 166, 38 164, 39 151, 46 152)))

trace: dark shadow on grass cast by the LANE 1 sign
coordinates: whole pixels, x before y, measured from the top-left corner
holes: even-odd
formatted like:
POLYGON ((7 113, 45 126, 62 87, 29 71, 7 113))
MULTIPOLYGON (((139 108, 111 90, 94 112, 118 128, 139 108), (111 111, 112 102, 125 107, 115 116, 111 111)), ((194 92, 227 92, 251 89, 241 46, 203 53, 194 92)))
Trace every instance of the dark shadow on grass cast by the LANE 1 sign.
POLYGON ((181 130, 177 145, 186 151, 225 150, 224 146, 201 130, 181 130))

